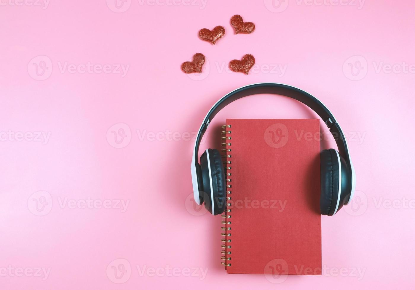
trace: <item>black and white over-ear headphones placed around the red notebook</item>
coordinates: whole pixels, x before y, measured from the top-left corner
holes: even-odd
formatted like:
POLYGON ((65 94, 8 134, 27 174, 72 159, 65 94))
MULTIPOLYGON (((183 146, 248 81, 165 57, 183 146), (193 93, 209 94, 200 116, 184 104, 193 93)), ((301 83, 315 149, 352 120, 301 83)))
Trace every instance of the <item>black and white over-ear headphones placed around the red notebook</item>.
POLYGON ((320 152, 320 212, 322 215, 337 213, 352 200, 356 186, 354 167, 343 131, 330 110, 317 98, 296 87, 278 83, 258 83, 235 89, 217 101, 207 113, 195 141, 190 166, 195 202, 199 205, 205 202, 205 208, 212 215, 219 215, 225 210, 226 179, 221 155, 217 149, 206 149, 200 156, 199 164, 197 158, 200 141, 210 121, 221 109, 237 99, 253 94, 279 94, 300 101, 320 116, 333 137, 338 136, 334 138, 338 151, 331 148, 320 152))

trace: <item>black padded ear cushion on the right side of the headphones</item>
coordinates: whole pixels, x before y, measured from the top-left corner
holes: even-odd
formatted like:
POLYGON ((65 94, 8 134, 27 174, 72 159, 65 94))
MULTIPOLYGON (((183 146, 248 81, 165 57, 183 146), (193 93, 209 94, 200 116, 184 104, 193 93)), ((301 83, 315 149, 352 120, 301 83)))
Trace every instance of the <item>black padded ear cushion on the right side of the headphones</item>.
POLYGON ((340 164, 336 150, 323 150, 320 153, 320 211, 322 215, 334 215, 336 210, 339 196, 339 171, 340 164))

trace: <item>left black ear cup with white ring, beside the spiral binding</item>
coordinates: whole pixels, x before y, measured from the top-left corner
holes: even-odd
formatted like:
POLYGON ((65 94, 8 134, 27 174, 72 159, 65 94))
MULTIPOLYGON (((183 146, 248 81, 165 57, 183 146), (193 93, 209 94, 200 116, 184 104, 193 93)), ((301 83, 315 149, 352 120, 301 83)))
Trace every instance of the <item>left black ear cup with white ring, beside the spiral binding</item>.
POLYGON ((226 206, 226 181, 222 157, 216 149, 207 149, 200 156, 203 177, 205 208, 213 215, 220 215, 226 206))

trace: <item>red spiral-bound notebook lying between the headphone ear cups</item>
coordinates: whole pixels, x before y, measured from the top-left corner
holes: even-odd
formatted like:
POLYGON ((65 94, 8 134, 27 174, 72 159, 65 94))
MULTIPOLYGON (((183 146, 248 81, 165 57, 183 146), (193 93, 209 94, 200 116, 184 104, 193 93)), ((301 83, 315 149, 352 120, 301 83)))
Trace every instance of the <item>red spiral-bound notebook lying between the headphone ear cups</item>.
POLYGON ((224 130, 227 273, 321 275, 319 120, 227 119, 224 130))

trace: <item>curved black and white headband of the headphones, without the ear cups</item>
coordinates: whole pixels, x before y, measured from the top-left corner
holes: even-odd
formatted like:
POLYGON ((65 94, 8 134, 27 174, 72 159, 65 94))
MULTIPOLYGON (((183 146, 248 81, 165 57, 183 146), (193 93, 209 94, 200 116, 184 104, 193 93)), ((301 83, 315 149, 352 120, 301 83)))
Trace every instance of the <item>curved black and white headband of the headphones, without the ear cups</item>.
MULTIPOLYGON (((337 138, 336 144, 338 147, 339 154, 344 158, 344 160, 347 163, 347 167, 351 171, 351 176, 354 181, 354 168, 352 165, 352 161, 350 160, 349 156, 349 150, 347 147, 347 140, 344 137, 343 131, 340 128, 339 124, 337 123, 336 119, 334 118, 333 114, 330 112, 330 110, 316 97, 313 97, 311 94, 298 89, 296 87, 292 87, 289 85, 284 84, 278 84, 278 83, 257 83, 253 85, 247 85, 244 87, 240 87, 239 89, 235 89, 234 91, 230 92, 229 94, 226 94, 224 97, 222 97, 219 101, 216 102, 210 109, 210 111, 207 113, 205 119, 203 120, 202 125, 200 126, 196 141, 195 141, 195 147, 193 151, 193 158, 192 158, 192 179, 193 179, 193 191, 195 193, 195 200, 198 204, 200 204, 199 198, 197 197, 198 194, 196 192, 199 191, 199 184, 198 184, 198 172, 200 172, 200 165, 198 163, 198 151, 200 142, 202 140, 203 134, 205 133, 207 126, 209 126, 210 121, 216 116, 217 113, 221 109, 223 109, 228 104, 232 103, 233 101, 236 101, 237 99, 240 99, 242 97, 246 97, 253 94, 279 94, 286 97, 290 97, 292 99, 295 99, 297 101, 300 101, 301 103, 308 106, 310 109, 315 111, 320 118, 324 121, 324 123, 329 128, 332 135, 336 134, 337 138), (198 165, 198 167, 197 167, 198 165)), ((352 182, 354 184, 354 182, 352 182)), ((352 189, 352 192, 354 189, 352 189)))

